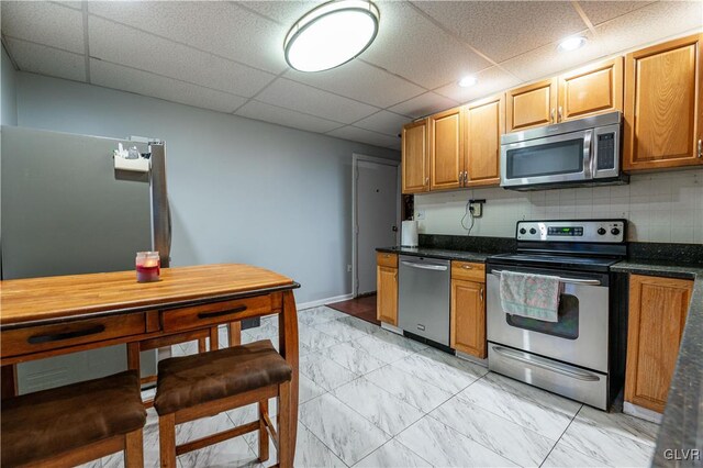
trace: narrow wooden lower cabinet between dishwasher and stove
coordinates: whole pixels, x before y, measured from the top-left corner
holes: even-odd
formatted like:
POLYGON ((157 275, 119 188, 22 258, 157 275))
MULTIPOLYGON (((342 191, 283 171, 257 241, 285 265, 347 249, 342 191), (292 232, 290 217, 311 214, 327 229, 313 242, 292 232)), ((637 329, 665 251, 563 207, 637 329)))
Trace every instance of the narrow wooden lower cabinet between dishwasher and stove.
MULTIPOLYGON (((464 263, 453 261, 449 345, 461 353, 486 358, 486 277, 481 281, 457 279, 464 263), (455 265, 457 264, 457 265, 455 265)), ((476 264, 476 270, 482 265, 476 264)))

